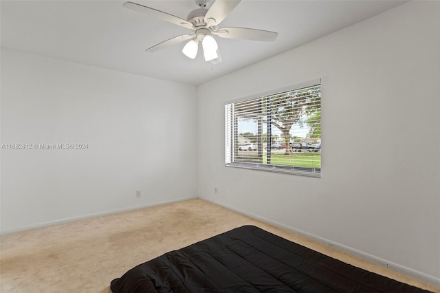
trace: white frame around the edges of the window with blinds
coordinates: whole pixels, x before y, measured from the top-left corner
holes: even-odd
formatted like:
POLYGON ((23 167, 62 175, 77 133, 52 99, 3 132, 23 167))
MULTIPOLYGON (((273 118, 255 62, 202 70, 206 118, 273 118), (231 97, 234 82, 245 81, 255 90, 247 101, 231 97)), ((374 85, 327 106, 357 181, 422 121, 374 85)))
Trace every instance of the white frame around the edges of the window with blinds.
MULTIPOLYGON (((232 142, 232 135, 239 135, 238 131, 234 131, 233 125, 234 122, 232 122, 232 118, 228 118, 228 115, 232 115, 233 110, 227 109, 228 105, 239 103, 239 102, 245 102, 250 100, 255 100, 258 98, 264 98, 266 96, 272 96, 276 94, 281 94, 283 92, 287 91, 297 91, 300 89, 303 89, 305 87, 313 87, 313 86, 320 86, 320 92, 322 93, 322 80, 321 78, 315 79, 315 80, 309 80, 305 83, 298 83, 296 85, 289 85, 287 87, 281 87, 278 89, 272 89, 270 91, 261 92, 259 94, 253 94, 251 96, 245 96, 243 98, 239 98, 236 100, 230 100, 228 102, 225 102, 225 166, 227 167, 234 167, 234 168, 242 168, 242 169, 252 169, 252 170, 259 170, 259 171, 269 171, 274 173, 284 173, 284 174, 292 174, 292 175, 303 175, 308 177, 321 177, 321 169, 320 168, 314 168, 314 167, 304 167, 304 166, 289 166, 289 165, 278 165, 278 164, 263 164, 261 162, 234 162, 234 158, 232 158, 234 151, 232 151, 232 148, 234 148, 234 144, 232 142), (228 126, 231 129, 228 129, 228 126), (236 133, 237 132, 237 133, 236 133), (229 151, 228 151, 229 148, 229 151), (228 158, 228 154, 230 154, 230 158, 228 158), (229 159, 229 160, 228 160, 229 159)), ((322 100, 320 100, 320 109, 322 109, 322 100)), ((322 120, 320 120, 320 127, 322 127, 322 120)), ((259 139, 260 136, 259 136, 259 139)), ((237 142, 237 140, 235 140, 237 142)), ((287 143, 286 143, 287 144, 287 143)), ((322 152, 320 151, 320 158, 322 160, 322 152)))

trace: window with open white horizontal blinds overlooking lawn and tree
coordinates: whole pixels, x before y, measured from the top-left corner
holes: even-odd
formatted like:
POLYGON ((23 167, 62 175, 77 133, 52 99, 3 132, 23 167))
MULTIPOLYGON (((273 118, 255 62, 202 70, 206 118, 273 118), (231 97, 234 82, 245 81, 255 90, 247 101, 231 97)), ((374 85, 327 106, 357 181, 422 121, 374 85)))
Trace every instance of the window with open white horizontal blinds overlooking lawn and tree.
POLYGON ((226 166, 320 177, 320 146, 320 81, 225 105, 226 166))

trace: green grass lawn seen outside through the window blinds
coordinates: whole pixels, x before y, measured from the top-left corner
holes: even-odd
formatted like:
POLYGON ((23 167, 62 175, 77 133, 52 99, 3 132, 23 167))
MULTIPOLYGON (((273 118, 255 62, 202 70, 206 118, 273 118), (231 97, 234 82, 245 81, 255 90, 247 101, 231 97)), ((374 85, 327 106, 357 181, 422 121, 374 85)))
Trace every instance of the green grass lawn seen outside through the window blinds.
MULTIPOLYGON (((259 159, 257 155, 241 155, 241 160, 243 162, 260 162, 267 164, 267 155, 263 155, 263 162, 261 162, 261 159, 259 159)), ((270 164, 320 168, 321 153, 294 153, 293 155, 275 153, 271 155, 270 164)))

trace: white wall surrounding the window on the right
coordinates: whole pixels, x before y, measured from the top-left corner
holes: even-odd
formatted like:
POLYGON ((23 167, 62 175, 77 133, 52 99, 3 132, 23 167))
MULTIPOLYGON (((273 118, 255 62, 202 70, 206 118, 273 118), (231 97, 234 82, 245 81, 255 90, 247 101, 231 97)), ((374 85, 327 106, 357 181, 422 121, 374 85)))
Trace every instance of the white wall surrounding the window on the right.
POLYGON ((406 3, 201 85, 199 196, 440 284, 439 12, 406 3), (225 102, 316 78, 320 179, 224 166, 225 102))

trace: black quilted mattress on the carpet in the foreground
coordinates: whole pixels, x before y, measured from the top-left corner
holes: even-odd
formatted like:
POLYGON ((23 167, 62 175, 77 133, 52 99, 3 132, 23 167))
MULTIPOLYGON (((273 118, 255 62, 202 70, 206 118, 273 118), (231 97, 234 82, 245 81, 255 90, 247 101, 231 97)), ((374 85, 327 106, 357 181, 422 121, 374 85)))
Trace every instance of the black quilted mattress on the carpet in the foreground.
POLYGON ((128 292, 428 292, 356 268, 255 226, 135 266, 111 281, 128 292))

